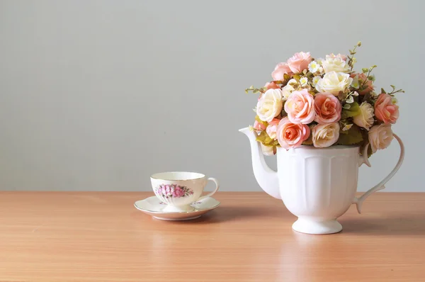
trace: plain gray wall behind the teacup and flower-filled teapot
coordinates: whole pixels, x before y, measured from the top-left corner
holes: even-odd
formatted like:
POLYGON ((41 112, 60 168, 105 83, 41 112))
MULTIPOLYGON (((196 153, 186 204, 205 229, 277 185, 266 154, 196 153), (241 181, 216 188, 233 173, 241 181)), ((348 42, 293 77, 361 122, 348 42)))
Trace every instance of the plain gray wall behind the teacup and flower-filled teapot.
MULTIPOLYGON (((407 152, 385 191, 425 191, 422 1, 0 1, 0 189, 149 191, 198 171, 260 191, 249 142, 256 95, 294 52, 377 64, 403 88, 393 130, 407 152)), ((359 190, 397 162, 362 167, 359 190)), ((267 162, 276 168, 274 157, 267 162)))

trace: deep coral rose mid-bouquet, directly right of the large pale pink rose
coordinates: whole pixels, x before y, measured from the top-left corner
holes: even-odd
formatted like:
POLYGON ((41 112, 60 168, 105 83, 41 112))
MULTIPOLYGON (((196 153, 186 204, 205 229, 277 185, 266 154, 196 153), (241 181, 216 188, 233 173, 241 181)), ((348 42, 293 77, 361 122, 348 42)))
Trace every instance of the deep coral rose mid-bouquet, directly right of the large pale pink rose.
POLYGON ((314 96, 314 121, 319 124, 335 123, 341 119, 341 103, 330 93, 318 93, 314 96))

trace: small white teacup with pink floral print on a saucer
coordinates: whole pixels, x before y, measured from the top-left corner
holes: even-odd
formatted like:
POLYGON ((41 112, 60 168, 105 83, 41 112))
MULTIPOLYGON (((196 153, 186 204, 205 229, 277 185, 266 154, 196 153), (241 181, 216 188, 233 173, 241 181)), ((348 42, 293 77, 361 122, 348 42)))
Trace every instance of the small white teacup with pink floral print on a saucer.
POLYGON ((190 212, 191 203, 201 201, 217 192, 219 185, 215 178, 188 171, 169 171, 152 174, 152 189, 160 201, 166 203, 164 212, 190 212), (215 189, 201 196, 208 180, 215 183, 215 189))

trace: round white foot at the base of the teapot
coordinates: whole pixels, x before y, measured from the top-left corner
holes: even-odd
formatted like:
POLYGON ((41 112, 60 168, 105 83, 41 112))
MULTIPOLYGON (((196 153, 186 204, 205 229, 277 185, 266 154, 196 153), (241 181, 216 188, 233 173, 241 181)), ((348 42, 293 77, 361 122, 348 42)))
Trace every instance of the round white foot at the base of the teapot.
POLYGON ((336 219, 299 217, 293 224, 293 230, 307 234, 332 234, 342 230, 342 225, 336 219))

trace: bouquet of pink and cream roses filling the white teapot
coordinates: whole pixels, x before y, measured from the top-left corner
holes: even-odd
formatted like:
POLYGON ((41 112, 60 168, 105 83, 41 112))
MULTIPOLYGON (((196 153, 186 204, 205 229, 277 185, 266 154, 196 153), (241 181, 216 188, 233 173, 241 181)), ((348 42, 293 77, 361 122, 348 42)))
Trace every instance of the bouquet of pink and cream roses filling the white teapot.
MULTIPOLYGON (((375 92, 376 66, 353 70, 356 48, 350 55, 326 55, 314 59, 310 52, 298 52, 280 62, 271 73, 272 81, 260 89, 254 126, 264 154, 312 145, 370 144, 368 157, 392 141, 391 125, 399 117, 395 89, 375 92)), ((360 150, 363 152, 363 150, 360 150)))

